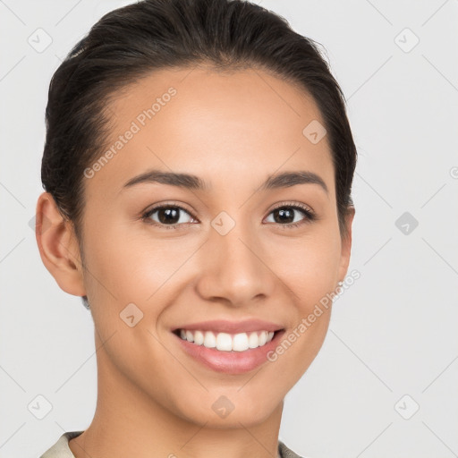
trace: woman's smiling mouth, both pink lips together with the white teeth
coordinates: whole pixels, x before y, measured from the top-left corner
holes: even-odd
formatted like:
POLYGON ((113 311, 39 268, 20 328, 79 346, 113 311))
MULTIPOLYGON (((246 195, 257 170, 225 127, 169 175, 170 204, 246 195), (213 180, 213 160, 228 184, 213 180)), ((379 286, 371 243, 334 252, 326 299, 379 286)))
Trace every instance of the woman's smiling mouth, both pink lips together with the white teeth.
POLYGON ((206 369, 244 374, 265 364, 285 328, 259 320, 236 326, 227 321, 183 325, 172 330, 174 341, 206 369), (237 329, 237 330, 235 330, 237 329))

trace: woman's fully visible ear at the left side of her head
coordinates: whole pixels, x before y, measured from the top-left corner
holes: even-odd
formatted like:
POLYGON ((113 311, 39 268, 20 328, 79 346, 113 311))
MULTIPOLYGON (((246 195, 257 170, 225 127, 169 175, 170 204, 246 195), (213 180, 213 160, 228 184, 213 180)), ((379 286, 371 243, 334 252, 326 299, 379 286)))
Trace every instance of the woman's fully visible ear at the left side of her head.
POLYGON ((35 220, 39 254, 49 273, 65 293, 86 295, 81 253, 72 223, 61 215, 49 192, 39 196, 35 220))

